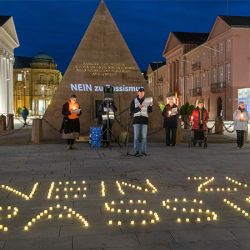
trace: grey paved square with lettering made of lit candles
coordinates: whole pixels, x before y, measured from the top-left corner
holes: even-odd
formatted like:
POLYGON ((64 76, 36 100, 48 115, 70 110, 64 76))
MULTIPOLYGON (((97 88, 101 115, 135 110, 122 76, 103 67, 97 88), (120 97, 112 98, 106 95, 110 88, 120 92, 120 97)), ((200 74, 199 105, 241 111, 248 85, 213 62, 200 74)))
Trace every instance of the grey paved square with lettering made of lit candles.
POLYGON ((150 155, 142 158, 126 157, 125 151, 84 143, 71 151, 64 144, 0 146, 0 224, 8 228, 0 230, 0 249, 250 249, 245 200, 250 190, 244 186, 250 186, 249 146, 150 144, 150 155), (199 184, 209 180, 198 192, 199 184), (29 200, 6 189, 29 195, 36 182, 29 200))

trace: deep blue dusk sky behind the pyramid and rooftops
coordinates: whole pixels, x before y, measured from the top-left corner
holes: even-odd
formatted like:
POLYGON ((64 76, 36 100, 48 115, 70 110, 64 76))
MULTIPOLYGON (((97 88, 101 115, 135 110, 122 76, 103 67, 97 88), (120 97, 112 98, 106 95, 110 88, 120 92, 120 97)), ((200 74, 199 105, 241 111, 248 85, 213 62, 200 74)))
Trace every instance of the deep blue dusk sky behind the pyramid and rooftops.
MULTIPOLYGON (((217 15, 250 16, 250 0, 106 0, 141 70, 162 60, 170 31, 209 32, 217 15)), ((0 15, 14 17, 16 55, 51 55, 67 68, 99 0, 0 0, 0 15)))

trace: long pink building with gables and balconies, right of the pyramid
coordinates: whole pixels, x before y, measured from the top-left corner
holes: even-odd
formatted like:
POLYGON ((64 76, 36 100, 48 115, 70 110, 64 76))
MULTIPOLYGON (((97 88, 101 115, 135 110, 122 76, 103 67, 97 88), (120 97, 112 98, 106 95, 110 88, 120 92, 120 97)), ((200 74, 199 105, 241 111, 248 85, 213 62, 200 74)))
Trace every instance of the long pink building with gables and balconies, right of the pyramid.
POLYGON ((250 107, 250 17, 218 16, 207 39, 206 33, 182 32, 186 39, 190 34, 197 40, 189 49, 171 33, 164 50, 170 91, 179 90, 182 103, 202 97, 210 118, 231 120, 239 100, 250 107))

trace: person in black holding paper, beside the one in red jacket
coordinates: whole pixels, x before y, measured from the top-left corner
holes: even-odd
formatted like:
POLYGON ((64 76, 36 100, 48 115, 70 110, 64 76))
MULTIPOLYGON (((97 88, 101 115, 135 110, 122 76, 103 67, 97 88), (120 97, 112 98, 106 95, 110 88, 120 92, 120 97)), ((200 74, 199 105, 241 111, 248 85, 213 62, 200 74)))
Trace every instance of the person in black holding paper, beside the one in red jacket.
POLYGON ((166 132, 166 146, 176 144, 176 131, 178 123, 179 110, 174 103, 174 98, 169 98, 169 103, 164 107, 162 115, 164 117, 163 128, 166 132))

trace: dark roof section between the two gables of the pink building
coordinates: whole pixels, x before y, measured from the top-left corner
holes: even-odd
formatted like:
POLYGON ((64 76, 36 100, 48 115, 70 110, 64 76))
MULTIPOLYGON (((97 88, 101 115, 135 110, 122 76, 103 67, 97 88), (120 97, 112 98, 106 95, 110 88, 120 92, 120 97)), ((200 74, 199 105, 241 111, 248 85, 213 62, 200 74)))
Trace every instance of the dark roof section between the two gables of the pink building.
POLYGON ((206 42, 209 33, 198 33, 198 32, 172 32, 176 38, 184 44, 202 44, 206 42))

